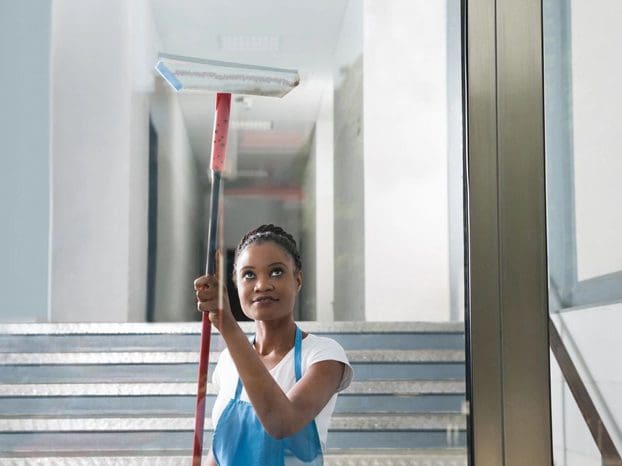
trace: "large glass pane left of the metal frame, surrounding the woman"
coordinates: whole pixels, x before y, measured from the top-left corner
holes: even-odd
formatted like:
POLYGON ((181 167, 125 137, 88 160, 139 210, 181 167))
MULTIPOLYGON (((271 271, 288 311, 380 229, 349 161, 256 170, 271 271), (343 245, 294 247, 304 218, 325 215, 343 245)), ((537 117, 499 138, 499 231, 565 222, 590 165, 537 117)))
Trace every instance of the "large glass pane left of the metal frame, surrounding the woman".
MULTIPOLYGON (((20 21, 36 8, 3 11, 3 30, 31 34, 20 21)), ((26 163, 16 145, 3 172, 36 167, 49 187, 10 184, 38 220, 5 229, 0 248, 14 263, 3 272, 15 285, 31 266, 37 284, 28 312, 23 287, 2 288, 2 454, 79 462, 149 450, 186 464, 214 94, 170 89, 154 70, 165 52, 299 71, 283 98, 233 97, 222 249, 230 276, 249 229, 275 223, 296 239, 295 317, 334 336, 356 374, 329 454, 466 464, 460 1, 54 2, 37 12, 47 29, 32 37, 50 75, 24 74, 40 76, 33 105, 49 117, 12 131, 36 132, 42 149, 30 155, 46 163, 26 163)), ((0 52, 7 63, 28 56, 0 52)), ((0 84, 29 90, 14 76, 0 84)), ((229 294, 248 320, 232 282, 229 294)), ((215 336, 214 353, 223 347, 215 336)))

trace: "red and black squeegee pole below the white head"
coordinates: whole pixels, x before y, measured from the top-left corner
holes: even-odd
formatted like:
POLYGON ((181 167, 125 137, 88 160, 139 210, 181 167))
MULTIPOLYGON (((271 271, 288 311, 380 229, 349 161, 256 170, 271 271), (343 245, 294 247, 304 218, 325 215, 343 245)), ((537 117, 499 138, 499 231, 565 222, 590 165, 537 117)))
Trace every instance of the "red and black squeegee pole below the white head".
MULTIPOLYGON (((231 112, 231 94, 216 94, 216 112, 214 115, 214 135, 212 137, 212 189, 210 199, 210 223, 208 233, 208 249, 206 273, 216 271, 216 249, 218 238, 218 208, 220 205, 221 173, 225 167, 227 152, 227 135, 229 133, 229 114, 231 112)), ((203 432, 205 426, 205 400, 207 393, 207 371, 209 368, 210 336, 212 324, 207 313, 203 313, 201 321, 201 348, 199 352, 199 375, 197 382, 197 402, 194 416, 194 444, 192 449, 192 466, 201 466, 203 456, 203 432)))

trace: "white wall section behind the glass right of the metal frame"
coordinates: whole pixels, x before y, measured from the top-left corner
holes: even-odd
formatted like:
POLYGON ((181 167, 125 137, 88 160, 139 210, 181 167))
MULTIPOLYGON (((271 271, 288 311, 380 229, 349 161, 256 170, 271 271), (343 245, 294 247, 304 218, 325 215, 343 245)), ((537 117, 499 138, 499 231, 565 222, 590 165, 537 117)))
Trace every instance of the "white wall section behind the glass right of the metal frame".
POLYGON ((571 2, 578 278, 622 270, 622 2, 571 2))

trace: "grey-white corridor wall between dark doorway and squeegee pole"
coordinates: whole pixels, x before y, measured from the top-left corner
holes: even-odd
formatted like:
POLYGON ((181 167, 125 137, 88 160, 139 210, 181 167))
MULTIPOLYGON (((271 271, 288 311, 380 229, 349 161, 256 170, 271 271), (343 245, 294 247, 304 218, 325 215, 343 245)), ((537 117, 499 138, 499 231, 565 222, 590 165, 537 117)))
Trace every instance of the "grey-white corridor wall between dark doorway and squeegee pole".
POLYGON ((159 79, 153 96, 158 133, 158 221, 156 321, 196 320, 192 283, 203 273, 205 227, 202 191, 181 107, 175 92, 159 79))

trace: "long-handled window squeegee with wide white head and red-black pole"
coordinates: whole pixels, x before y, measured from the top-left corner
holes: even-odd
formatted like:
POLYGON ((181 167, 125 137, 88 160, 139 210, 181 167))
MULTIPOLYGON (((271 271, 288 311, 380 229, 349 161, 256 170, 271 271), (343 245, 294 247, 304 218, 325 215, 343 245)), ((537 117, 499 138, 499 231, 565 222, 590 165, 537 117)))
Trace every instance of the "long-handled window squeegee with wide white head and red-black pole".
MULTIPOLYGON (((177 92, 216 93, 210 166, 212 185, 208 250, 205 266, 206 274, 211 275, 216 271, 220 185, 227 151, 231 94, 283 97, 298 85, 300 78, 295 70, 204 60, 164 53, 159 55, 155 68, 177 92)), ((219 277, 219 280, 222 281, 223 277, 219 277)), ((222 302, 222 297, 219 297, 219 302, 222 302)), ((203 313, 194 418, 193 466, 200 466, 203 455, 205 395, 211 332, 212 326, 209 317, 207 313, 203 313)))

